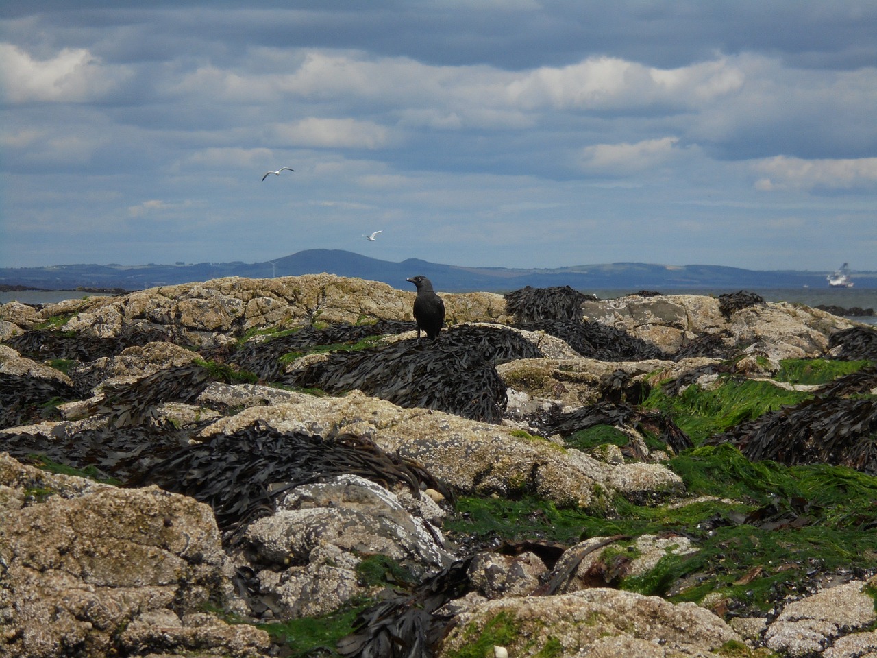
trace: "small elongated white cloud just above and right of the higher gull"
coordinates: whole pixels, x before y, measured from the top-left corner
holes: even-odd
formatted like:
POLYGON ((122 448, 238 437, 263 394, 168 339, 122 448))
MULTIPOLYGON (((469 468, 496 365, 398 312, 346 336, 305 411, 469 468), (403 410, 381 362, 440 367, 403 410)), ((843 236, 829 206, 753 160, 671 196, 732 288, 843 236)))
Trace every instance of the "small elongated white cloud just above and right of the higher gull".
POLYGON ((374 150, 390 141, 389 129, 353 118, 303 118, 294 124, 275 125, 274 133, 284 146, 296 147, 374 150))

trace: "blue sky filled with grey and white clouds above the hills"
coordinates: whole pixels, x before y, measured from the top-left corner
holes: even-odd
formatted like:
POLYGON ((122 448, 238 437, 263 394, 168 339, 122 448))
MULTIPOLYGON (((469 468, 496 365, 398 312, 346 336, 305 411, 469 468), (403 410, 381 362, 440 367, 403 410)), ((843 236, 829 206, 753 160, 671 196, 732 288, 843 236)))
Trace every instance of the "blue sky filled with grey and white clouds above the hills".
POLYGON ((0 267, 875 271, 877 3, 4 0, 0 193, 0 267))

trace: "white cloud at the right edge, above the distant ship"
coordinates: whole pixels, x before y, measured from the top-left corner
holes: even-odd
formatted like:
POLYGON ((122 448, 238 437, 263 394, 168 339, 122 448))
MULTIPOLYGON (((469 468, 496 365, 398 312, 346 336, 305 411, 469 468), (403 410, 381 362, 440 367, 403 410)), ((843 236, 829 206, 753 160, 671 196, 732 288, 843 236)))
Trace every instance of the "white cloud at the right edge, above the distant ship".
POLYGON ((755 162, 752 168, 764 175, 755 182, 755 188, 763 191, 877 187, 877 158, 802 160, 777 155, 755 162))

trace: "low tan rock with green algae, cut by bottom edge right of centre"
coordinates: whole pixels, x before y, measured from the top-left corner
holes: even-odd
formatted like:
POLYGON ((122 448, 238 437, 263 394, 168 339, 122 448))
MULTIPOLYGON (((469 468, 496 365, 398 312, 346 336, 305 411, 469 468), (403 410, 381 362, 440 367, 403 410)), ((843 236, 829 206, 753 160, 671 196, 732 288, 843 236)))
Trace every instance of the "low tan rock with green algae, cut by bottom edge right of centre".
POLYGON ((594 588, 553 597, 501 598, 460 613, 439 656, 462 647, 508 648, 513 656, 717 656, 737 633, 695 604, 594 588))

